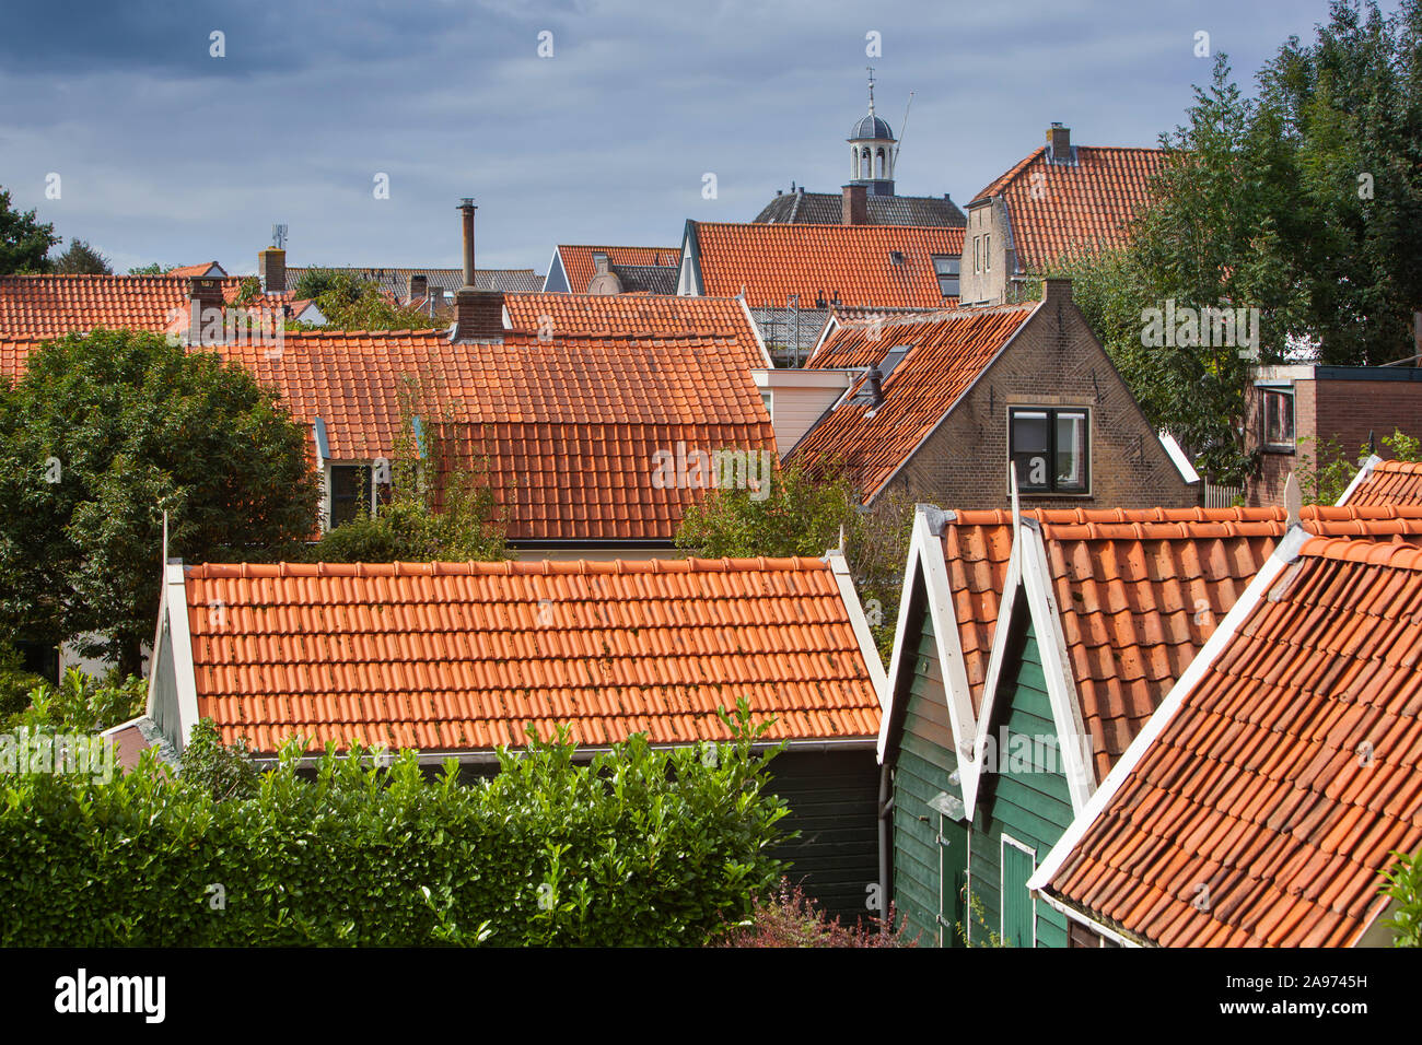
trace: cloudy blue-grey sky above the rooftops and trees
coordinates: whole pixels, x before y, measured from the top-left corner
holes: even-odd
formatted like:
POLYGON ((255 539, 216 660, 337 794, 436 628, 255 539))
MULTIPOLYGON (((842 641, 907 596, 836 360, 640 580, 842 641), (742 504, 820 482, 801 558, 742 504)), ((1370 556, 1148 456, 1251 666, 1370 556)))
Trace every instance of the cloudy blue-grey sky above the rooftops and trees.
POLYGON ((479 266, 542 274, 555 243, 675 246, 685 219, 749 220, 792 181, 838 192, 870 63, 903 138, 899 192, 966 203, 1054 119, 1079 144, 1153 145, 1209 78, 1196 33, 1249 84, 1325 16, 1324 0, 11 4, 0 185, 117 272, 249 273, 274 222, 290 264, 455 267, 472 195, 479 266))

